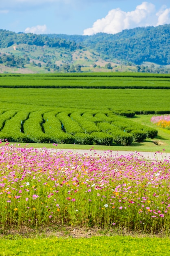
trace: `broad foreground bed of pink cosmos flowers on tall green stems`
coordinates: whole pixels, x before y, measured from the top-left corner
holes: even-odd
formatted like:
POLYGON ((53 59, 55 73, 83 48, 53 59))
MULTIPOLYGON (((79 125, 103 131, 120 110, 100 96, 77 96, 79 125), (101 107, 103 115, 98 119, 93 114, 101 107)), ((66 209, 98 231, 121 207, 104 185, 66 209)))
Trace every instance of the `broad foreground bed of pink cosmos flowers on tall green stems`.
MULTIPOLYGON (((170 227, 170 159, 0 147, 0 226, 170 227)), ((155 157, 156 158, 156 157, 155 157)))

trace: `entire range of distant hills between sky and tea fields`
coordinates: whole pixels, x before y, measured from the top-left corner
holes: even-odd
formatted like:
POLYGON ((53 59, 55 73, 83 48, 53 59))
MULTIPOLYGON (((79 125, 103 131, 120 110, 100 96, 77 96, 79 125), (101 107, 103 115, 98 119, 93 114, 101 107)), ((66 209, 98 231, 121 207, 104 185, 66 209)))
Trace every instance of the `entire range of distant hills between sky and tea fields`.
POLYGON ((0 30, 0 72, 170 72, 170 24, 93 36, 0 30), (15 70, 17 69, 17 70, 15 70))

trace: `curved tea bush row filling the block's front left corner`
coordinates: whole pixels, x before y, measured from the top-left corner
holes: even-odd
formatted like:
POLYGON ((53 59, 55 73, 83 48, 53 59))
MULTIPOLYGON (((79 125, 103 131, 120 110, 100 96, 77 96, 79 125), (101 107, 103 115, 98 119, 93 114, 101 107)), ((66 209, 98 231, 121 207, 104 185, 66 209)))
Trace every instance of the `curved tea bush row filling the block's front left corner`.
POLYGON ((28 116, 28 111, 19 111, 12 118, 8 119, 0 132, 0 138, 13 142, 26 142, 27 136, 23 133, 23 124, 28 116))

